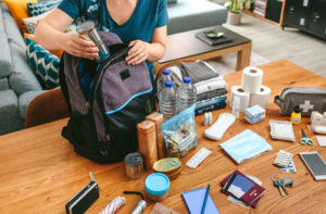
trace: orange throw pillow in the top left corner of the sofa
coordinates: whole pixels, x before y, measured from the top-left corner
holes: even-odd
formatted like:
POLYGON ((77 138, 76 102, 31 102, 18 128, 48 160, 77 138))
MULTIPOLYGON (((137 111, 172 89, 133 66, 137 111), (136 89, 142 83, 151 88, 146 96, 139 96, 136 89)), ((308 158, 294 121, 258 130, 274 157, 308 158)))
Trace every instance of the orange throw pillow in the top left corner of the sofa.
POLYGON ((2 0, 12 16, 16 21, 20 29, 27 33, 26 26, 23 25, 23 18, 28 17, 27 2, 37 2, 37 0, 2 0))

